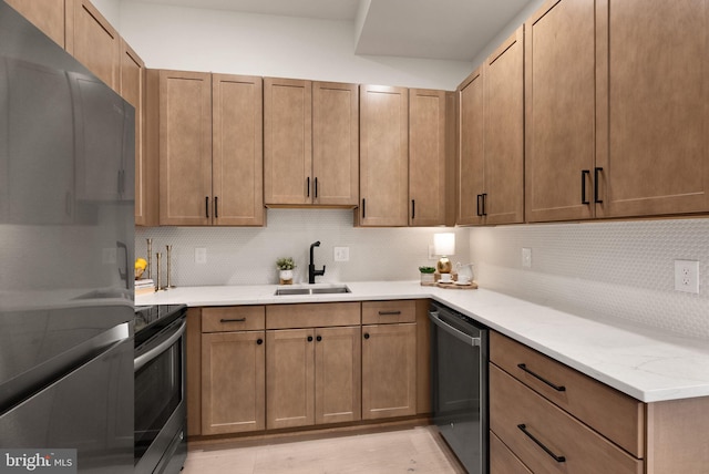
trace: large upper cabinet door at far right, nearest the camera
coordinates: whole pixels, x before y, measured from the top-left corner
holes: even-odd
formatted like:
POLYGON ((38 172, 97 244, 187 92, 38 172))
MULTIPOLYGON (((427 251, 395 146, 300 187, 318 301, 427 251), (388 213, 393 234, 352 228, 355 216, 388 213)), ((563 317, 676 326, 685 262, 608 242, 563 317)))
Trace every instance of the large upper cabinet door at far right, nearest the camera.
POLYGON ((709 2, 608 3, 597 39, 597 216, 709 210, 709 2))

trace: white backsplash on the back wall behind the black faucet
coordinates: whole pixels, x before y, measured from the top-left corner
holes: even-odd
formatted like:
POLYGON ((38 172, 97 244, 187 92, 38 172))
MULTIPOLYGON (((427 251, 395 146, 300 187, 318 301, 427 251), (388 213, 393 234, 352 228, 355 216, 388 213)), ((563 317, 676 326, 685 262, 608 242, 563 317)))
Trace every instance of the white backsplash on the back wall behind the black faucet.
MULTIPOLYGON (((148 227, 135 228, 135 255, 172 249, 172 284, 175 286, 263 285, 278 282, 276 258, 292 257, 296 282, 308 280, 310 244, 315 265, 327 266, 317 281, 414 280, 420 265, 434 265, 428 256, 433 234, 451 228, 356 228, 349 209, 268 209, 267 227, 148 227), (335 261, 335 247, 349 247, 349 261, 335 261), (195 248, 206 248, 207 262, 195 262, 195 248)), ((456 233, 453 262, 470 260, 469 229, 456 233)), ((153 264, 155 256, 153 255, 153 264)), ((155 278, 155 275, 153 275, 155 278)))

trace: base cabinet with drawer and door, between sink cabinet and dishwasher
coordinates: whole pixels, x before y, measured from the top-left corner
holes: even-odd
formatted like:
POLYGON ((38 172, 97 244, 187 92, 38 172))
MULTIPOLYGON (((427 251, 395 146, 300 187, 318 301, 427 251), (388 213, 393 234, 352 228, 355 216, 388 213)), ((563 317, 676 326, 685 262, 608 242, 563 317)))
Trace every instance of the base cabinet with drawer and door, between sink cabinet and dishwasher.
POLYGON ((362 302, 362 419, 417 413, 415 301, 362 302))

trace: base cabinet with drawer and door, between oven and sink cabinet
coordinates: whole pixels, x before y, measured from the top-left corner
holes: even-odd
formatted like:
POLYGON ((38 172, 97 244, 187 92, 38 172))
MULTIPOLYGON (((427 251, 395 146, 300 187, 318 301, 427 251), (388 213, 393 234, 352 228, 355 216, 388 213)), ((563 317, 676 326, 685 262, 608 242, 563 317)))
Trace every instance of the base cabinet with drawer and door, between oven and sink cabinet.
POLYGON ((202 310, 202 434, 266 427, 265 309, 202 310))

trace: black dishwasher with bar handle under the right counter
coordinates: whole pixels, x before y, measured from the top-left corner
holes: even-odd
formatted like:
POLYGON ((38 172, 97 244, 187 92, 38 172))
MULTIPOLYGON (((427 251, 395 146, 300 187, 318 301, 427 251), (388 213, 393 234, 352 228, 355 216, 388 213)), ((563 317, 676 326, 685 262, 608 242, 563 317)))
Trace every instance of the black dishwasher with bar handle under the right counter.
POLYGON ((433 421, 470 474, 489 472, 487 328, 431 303, 433 421))

